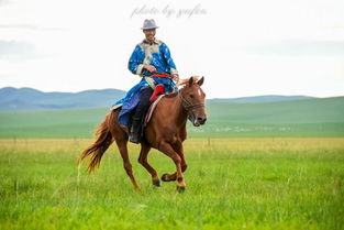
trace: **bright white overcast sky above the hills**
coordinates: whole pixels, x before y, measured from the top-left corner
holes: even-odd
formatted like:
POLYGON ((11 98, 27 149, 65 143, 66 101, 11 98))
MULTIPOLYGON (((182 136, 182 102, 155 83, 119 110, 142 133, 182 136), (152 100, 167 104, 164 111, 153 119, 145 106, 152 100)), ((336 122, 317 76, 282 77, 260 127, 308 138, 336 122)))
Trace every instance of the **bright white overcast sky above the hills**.
POLYGON ((0 0, 0 88, 129 90, 144 19, 207 98, 344 95, 343 0, 0 0))

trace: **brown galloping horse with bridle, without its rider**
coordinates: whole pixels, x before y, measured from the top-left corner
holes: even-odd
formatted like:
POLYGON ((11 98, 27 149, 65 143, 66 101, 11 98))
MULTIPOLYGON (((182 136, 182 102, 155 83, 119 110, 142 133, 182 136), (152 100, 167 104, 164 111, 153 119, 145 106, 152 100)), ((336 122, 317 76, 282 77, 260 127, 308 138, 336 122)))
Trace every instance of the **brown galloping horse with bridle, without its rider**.
MULTIPOLYGON (((177 180, 177 189, 179 191, 186 187, 182 173, 187 168, 187 162, 184 156, 182 142, 187 138, 186 124, 188 119, 195 127, 204 124, 207 120, 204 110, 206 94, 200 88, 203 79, 203 77, 199 80, 197 77, 191 77, 185 81, 185 86, 180 90, 163 97, 144 130, 138 162, 152 175, 153 185, 155 186, 160 186, 160 179, 157 172, 147 162, 151 147, 165 153, 176 164, 176 173, 164 174, 162 179, 164 182, 177 180)), ((88 171, 92 172, 99 166, 101 157, 110 144, 115 141, 123 158, 126 174, 134 188, 140 189, 133 176, 132 165, 127 155, 127 133, 118 123, 119 111, 120 109, 111 110, 107 114, 106 120, 98 127, 97 141, 81 153, 78 164, 86 156, 90 155, 91 160, 88 171)))

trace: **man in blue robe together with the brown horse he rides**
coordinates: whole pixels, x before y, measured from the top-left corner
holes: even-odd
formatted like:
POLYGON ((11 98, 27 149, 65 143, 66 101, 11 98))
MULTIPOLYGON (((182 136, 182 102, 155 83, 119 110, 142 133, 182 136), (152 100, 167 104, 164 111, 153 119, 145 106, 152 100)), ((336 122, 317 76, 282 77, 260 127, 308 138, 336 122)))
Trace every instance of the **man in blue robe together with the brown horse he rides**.
MULTIPOLYGON (((140 189, 127 152, 127 128, 131 127, 130 141, 141 143, 138 162, 151 174, 153 185, 160 186, 160 180, 177 182, 177 190, 182 191, 186 188, 184 172, 188 166, 182 146, 187 139, 187 121, 200 127, 207 120, 206 94, 201 88, 204 77, 192 76, 180 80, 180 88, 177 90, 175 81, 179 81, 179 77, 176 65, 166 44, 155 40, 156 28, 154 20, 144 21, 142 29, 146 37, 136 45, 129 61, 129 69, 142 76, 142 80, 113 106, 98 125, 96 141, 81 153, 78 164, 90 156, 88 171, 92 172, 100 165, 109 146, 115 142, 127 176, 134 188, 140 189), (154 88, 163 87, 170 94, 160 97, 158 103, 155 103, 154 112, 149 113, 152 119, 147 120, 143 130, 144 141, 141 141, 141 122, 149 106, 149 97, 154 88), (147 160, 151 149, 170 157, 176 165, 176 172, 165 173, 159 177, 147 160)), ((153 97, 156 94, 157 90, 153 97)))

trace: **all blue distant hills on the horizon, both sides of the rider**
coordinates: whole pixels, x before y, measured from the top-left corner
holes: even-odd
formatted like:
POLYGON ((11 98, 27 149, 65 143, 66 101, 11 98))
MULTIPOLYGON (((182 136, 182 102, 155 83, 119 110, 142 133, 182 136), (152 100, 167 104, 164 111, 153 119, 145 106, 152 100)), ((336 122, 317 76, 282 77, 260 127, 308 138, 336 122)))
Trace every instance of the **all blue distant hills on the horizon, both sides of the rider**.
MULTIPOLYGON (((43 92, 33 88, 0 88, 0 111, 34 111, 110 107, 125 91, 119 89, 86 90, 80 92, 43 92)), ((208 99, 207 102, 265 103, 312 99, 308 96, 256 96, 208 99)))

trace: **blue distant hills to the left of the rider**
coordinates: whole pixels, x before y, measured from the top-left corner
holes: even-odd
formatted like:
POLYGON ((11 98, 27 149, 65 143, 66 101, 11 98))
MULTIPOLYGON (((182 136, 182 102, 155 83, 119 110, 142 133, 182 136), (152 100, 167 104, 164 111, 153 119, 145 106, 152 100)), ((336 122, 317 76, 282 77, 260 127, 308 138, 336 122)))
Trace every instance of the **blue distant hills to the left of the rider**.
POLYGON ((5 87, 0 89, 0 111, 109 107, 124 95, 125 91, 119 89, 43 92, 32 88, 5 87))

